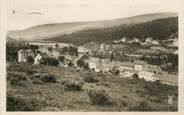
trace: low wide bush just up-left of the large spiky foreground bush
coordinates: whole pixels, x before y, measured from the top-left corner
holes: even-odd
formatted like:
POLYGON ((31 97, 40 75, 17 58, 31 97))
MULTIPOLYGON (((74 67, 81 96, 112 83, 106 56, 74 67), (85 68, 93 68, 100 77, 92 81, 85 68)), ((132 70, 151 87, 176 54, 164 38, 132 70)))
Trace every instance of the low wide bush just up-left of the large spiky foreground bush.
POLYGON ((66 91, 81 91, 83 82, 78 81, 64 81, 64 90, 66 91))

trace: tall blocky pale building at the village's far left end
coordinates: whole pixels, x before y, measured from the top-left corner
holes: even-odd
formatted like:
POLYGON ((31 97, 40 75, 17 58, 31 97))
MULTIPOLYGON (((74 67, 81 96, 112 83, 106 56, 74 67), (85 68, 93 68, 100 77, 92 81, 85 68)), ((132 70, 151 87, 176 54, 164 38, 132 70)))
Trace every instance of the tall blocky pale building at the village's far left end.
POLYGON ((24 62, 24 63, 27 62, 27 59, 29 56, 33 57, 34 52, 31 51, 30 49, 29 50, 20 49, 18 51, 18 62, 24 62))

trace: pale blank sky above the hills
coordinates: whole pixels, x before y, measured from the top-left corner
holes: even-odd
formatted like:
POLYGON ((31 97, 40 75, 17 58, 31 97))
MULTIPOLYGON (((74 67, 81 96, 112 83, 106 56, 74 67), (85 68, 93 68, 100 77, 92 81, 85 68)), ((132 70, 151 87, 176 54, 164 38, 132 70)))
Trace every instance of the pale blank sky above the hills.
POLYGON ((7 0, 7 30, 178 12, 179 0, 7 0))

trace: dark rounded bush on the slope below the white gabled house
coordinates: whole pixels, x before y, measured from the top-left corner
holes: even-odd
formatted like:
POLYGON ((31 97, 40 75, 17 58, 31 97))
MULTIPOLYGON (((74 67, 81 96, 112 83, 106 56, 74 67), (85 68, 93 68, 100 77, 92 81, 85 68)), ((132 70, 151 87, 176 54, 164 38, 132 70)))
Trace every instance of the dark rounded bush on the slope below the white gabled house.
POLYGON ((50 83, 55 83, 56 82, 56 76, 51 75, 51 74, 45 74, 41 78, 41 81, 43 82, 50 82, 50 83))

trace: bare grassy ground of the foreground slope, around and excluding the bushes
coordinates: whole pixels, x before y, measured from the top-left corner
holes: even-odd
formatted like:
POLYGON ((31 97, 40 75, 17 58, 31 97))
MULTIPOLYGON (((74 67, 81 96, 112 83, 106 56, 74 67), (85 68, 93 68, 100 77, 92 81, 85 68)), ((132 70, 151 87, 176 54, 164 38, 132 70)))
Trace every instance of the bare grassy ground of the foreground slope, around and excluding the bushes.
POLYGON ((82 81, 86 73, 89 72, 76 72, 74 68, 9 63, 7 73, 7 94, 26 102, 36 100, 37 104, 34 110, 38 111, 135 111, 140 110, 141 102, 146 102, 146 106, 149 107, 149 109, 143 108, 143 110, 177 110, 177 87, 140 80, 135 83, 132 80, 120 79, 112 75, 90 73, 99 82, 84 82, 82 91, 65 91, 61 84, 63 80, 82 81), (58 76, 58 82, 35 84, 31 77, 33 73, 37 72, 54 74, 58 76), (27 78, 26 81, 23 81, 24 86, 9 84, 10 78, 14 77, 14 74, 21 74, 27 78), (86 93, 86 89, 89 88, 105 89, 115 104, 113 106, 92 106, 86 93), (167 104, 167 95, 169 94, 174 95, 172 106, 167 104))

